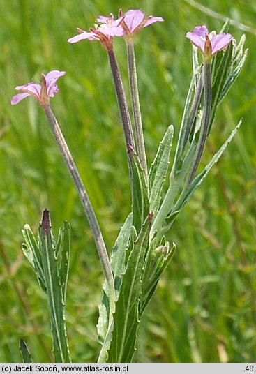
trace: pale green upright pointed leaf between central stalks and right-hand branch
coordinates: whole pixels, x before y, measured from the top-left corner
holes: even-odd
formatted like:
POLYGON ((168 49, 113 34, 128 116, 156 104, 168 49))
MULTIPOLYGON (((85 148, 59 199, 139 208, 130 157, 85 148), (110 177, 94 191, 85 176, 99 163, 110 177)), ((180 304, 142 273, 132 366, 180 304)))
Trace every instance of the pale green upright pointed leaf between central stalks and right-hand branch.
POLYGON ((149 207, 155 216, 159 209, 163 184, 170 164, 173 133, 173 126, 169 126, 149 171, 149 207))

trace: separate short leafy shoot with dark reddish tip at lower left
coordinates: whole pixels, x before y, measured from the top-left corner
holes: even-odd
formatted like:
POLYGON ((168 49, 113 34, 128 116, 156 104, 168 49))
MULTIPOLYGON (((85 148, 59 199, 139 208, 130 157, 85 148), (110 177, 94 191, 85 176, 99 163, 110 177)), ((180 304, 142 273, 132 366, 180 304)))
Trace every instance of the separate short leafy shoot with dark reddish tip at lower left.
MULTIPOLYGON (((26 244, 22 249, 47 293, 55 362, 70 362, 66 334, 65 304, 70 260, 70 225, 65 222, 59 231, 57 245, 52 237, 49 211, 43 212, 38 228, 38 241, 28 225, 22 230, 26 244)), ((22 345, 22 355, 25 352, 22 345)), ((28 354, 27 354, 28 355, 28 354)))

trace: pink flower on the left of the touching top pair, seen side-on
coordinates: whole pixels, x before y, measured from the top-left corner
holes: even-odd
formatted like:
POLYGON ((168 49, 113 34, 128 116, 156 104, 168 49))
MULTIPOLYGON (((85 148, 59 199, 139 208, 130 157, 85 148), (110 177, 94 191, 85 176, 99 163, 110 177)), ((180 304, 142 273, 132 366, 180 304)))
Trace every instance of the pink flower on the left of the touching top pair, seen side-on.
POLYGON ((105 15, 100 15, 97 21, 100 25, 95 25, 94 29, 90 32, 84 31, 77 28, 80 34, 73 36, 73 38, 68 39, 69 43, 77 43, 80 40, 100 40, 103 45, 109 50, 112 49, 112 38, 113 36, 123 36, 123 29, 120 26, 120 22, 123 17, 119 17, 114 20, 114 15, 110 13, 110 17, 105 17, 105 15))

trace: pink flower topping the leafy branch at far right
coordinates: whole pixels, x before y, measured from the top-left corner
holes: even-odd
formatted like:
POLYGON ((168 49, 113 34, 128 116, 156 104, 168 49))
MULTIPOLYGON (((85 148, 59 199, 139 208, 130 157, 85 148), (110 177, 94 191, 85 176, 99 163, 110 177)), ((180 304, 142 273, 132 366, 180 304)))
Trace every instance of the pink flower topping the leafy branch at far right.
POLYGON ((216 31, 209 33, 205 24, 195 27, 193 33, 188 32, 186 37, 202 50, 203 54, 207 53, 210 56, 227 47, 233 38, 230 33, 216 34, 216 31))

